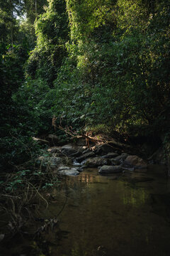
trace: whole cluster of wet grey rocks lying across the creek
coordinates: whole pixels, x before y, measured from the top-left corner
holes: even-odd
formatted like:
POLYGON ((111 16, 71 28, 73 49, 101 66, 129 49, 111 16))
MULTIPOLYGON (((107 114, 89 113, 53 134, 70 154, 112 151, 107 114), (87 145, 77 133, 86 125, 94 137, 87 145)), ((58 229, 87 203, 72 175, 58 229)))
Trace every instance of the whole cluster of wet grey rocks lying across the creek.
POLYGON ((128 154, 128 147, 123 152, 123 144, 117 146, 116 149, 114 143, 91 148, 77 144, 52 146, 47 150, 52 156, 40 156, 39 161, 62 175, 78 175, 86 168, 98 168, 98 174, 118 174, 135 183, 148 181, 147 178, 132 177, 135 173, 146 174, 147 162, 135 154, 128 154))

